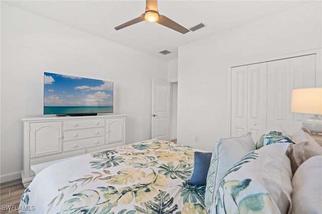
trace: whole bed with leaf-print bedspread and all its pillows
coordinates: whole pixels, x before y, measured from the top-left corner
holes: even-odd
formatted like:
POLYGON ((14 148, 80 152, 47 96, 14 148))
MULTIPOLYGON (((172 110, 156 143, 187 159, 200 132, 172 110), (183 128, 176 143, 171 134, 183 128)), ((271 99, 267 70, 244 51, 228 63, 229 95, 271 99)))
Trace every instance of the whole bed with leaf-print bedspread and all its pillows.
POLYGON ((274 127, 257 143, 251 133, 218 139, 212 153, 150 140, 64 160, 36 175, 19 208, 21 213, 320 213, 321 179, 322 147, 310 133, 289 135, 274 127))

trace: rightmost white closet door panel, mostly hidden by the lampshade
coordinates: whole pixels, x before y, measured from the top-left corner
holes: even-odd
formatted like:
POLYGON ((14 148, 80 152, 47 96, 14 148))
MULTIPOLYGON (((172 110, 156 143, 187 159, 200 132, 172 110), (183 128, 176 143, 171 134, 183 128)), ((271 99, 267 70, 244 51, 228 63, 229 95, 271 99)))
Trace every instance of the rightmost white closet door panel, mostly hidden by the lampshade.
MULTIPOLYGON (((294 57, 290 59, 290 87, 315 87, 315 54, 294 57)), ((290 94, 291 96, 291 94, 290 94)), ((302 121, 313 117, 312 115, 290 113, 290 132, 296 132, 302 127, 302 121)))

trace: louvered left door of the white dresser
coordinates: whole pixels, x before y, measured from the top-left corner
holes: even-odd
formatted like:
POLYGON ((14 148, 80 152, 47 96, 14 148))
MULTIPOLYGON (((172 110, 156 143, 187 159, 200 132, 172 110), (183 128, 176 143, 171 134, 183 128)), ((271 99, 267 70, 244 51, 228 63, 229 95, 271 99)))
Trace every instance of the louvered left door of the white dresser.
POLYGON ((30 158, 62 152, 61 121, 30 124, 30 158))

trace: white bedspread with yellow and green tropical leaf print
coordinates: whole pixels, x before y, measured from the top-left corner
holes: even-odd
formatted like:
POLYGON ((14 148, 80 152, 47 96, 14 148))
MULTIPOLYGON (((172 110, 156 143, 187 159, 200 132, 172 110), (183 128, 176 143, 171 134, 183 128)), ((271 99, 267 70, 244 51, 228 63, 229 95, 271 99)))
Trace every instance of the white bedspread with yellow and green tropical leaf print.
POLYGON ((146 141, 76 156, 42 170, 21 213, 207 213, 205 186, 187 184, 194 149, 146 141))

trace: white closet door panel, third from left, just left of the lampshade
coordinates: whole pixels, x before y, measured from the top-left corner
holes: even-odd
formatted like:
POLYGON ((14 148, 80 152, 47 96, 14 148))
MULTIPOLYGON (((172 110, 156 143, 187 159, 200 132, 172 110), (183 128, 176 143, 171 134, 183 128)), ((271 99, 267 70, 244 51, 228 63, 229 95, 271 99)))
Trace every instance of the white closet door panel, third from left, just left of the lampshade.
POLYGON ((267 63, 267 128, 274 124, 289 131, 290 59, 267 63))

